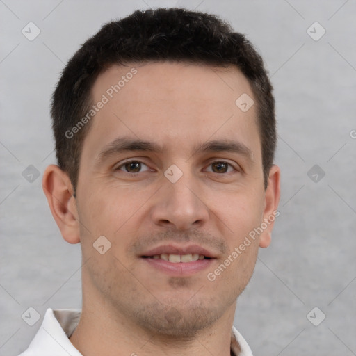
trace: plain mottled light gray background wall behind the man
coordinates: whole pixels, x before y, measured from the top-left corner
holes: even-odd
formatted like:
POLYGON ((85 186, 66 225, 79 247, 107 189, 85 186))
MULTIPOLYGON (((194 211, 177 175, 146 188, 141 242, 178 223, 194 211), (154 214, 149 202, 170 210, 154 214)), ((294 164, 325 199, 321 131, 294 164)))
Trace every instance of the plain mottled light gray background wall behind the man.
POLYGON ((28 346, 47 307, 81 307, 80 245, 60 236, 41 177, 22 175, 56 162, 49 98, 60 71, 104 22, 158 6, 227 19, 259 49, 275 87, 281 214, 236 327, 254 355, 356 355, 355 0, 0 0, 0 355, 28 346), (33 41, 22 35, 29 22, 41 31, 33 41), (319 40, 307 33, 314 22, 326 30, 319 40), (32 327, 22 320, 29 307, 41 316, 32 327), (314 307, 310 320, 326 316, 318 326, 307 318, 314 307))

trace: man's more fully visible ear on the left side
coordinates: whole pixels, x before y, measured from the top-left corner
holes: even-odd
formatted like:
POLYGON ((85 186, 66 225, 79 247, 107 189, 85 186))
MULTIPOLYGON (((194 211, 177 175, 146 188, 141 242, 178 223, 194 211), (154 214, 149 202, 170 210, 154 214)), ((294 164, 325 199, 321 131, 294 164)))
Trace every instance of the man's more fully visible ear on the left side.
POLYGON ((73 186, 67 173, 58 165, 49 165, 44 172, 42 188, 60 232, 68 243, 79 243, 79 217, 73 186))

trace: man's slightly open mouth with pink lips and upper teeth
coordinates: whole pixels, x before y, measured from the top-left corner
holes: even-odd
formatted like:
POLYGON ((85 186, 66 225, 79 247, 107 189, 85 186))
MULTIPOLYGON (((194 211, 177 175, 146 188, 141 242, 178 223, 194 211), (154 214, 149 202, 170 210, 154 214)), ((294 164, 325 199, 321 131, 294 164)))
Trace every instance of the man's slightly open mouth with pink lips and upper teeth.
POLYGON ((213 252, 194 245, 185 248, 165 245, 140 256, 149 266, 168 275, 188 276, 210 266, 216 259, 213 252))

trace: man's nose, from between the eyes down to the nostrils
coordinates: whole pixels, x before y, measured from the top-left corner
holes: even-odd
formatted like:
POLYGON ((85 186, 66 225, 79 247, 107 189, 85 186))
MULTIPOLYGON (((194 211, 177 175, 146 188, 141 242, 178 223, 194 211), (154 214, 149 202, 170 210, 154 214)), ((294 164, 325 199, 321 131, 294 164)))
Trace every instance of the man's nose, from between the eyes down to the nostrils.
POLYGON ((162 180, 163 186, 152 207, 154 224, 184 231, 207 223, 209 209, 202 196, 201 182, 188 173, 175 183, 164 176, 162 180))

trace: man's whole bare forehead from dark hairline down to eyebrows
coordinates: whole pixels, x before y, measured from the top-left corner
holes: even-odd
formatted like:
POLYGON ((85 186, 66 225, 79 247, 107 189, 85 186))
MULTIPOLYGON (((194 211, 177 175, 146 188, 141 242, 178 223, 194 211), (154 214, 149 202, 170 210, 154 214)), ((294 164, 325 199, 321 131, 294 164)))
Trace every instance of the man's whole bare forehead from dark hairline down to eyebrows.
POLYGON ((92 103, 105 104, 93 117, 83 146, 93 146, 96 154, 112 140, 131 136, 158 141, 169 152, 177 146, 188 150, 190 143, 196 147, 209 138, 238 138, 253 152, 259 149, 256 110, 242 111, 236 105, 241 95, 253 98, 248 79, 236 67, 113 65, 92 87, 92 103))

